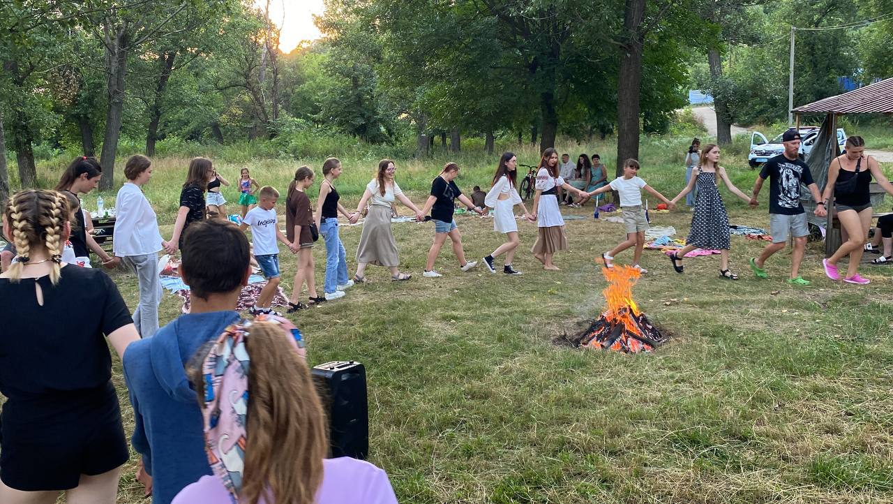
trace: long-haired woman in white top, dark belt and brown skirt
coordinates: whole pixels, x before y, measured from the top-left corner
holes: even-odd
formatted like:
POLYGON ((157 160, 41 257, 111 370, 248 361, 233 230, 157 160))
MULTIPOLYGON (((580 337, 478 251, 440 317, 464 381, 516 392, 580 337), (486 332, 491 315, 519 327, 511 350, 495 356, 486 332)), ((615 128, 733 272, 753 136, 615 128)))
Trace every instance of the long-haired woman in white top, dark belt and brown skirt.
POLYGON ((585 191, 573 187, 558 175, 558 153, 549 147, 539 160, 536 193, 533 196, 533 216, 537 219, 539 233, 531 252, 543 264, 543 269, 551 271, 558 270, 552 264, 552 256, 559 250, 567 249, 564 219, 558 210, 558 197, 555 194, 555 188, 558 187, 577 194, 580 199, 588 196, 585 191))

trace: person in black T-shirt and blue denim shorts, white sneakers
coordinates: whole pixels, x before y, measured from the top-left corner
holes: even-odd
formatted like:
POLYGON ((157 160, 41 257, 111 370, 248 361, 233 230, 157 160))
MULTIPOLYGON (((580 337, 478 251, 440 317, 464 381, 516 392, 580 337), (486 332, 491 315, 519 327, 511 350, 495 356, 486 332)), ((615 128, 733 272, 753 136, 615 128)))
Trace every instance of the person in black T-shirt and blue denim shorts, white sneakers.
POLYGON ((479 215, 484 214, 480 206, 474 206, 472 200, 462 194, 459 187, 453 181, 459 175, 459 165, 455 163, 447 163, 443 172, 440 172, 438 178, 431 182, 431 195, 425 206, 421 209, 422 214, 427 214, 430 210, 431 220, 434 221, 434 243, 428 251, 428 262, 425 263, 425 273, 422 276, 426 278, 437 278, 443 276, 434 271, 434 262, 438 259, 440 248, 443 247, 447 237, 453 241, 453 252, 455 257, 459 259, 459 267, 463 272, 471 270, 478 265, 477 261, 466 261, 465 252, 462 248, 462 234, 453 220, 453 210, 455 207, 455 199, 458 198, 465 206, 472 208, 479 215))

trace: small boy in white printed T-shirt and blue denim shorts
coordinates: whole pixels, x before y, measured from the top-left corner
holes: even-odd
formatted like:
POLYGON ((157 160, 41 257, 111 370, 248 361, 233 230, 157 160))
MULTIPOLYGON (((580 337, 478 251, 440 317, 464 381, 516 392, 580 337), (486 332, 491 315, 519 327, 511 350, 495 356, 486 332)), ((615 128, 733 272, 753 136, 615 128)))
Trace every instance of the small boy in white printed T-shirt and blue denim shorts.
POLYGON ((288 245, 293 254, 297 252, 298 247, 288 241, 276 224, 276 201, 279 199, 279 191, 270 186, 263 186, 259 196, 261 197, 260 203, 245 214, 242 224, 238 227, 241 231, 251 227, 255 259, 261 266, 263 276, 267 279, 267 284, 263 286, 257 297, 255 307, 251 308, 251 315, 280 315, 272 311, 271 308, 273 296, 276 295, 276 289, 280 284, 279 246, 276 245, 276 239, 288 245))

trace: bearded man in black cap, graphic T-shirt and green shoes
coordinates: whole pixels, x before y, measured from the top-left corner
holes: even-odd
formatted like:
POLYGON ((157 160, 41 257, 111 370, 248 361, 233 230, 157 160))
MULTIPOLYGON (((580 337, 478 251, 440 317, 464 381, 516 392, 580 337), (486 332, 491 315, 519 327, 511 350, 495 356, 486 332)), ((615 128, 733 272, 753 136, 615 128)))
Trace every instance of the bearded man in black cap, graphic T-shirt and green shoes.
MULTIPOLYGON (((766 259, 784 248, 788 237, 794 237, 794 252, 791 255, 790 278, 793 285, 809 285, 798 273, 800 263, 806 249, 806 237, 809 228, 806 225, 806 213, 800 204, 800 185, 806 186, 815 201, 822 203, 819 187, 813 181, 809 166, 797 157, 800 149, 800 134, 797 130, 787 130, 782 136, 784 153, 772 157, 763 165, 763 170, 756 177, 754 196, 751 205, 756 205, 756 196, 763 188, 763 181, 769 179, 769 228, 772 233, 772 244, 763 249, 759 257, 751 257, 750 268, 757 278, 767 278, 764 270, 766 259)), ((821 212, 820 212, 821 213, 821 212)))

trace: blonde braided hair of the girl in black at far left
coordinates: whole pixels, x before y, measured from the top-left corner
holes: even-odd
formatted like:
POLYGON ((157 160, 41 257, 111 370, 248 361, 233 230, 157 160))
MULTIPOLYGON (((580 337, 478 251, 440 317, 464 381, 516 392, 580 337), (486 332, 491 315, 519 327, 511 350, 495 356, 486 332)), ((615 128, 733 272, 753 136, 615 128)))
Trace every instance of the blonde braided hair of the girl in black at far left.
POLYGON ((21 279, 31 248, 46 248, 51 261, 50 281, 53 285, 58 283, 62 270, 64 226, 70 215, 68 199, 54 190, 25 189, 9 199, 5 214, 18 254, 9 268, 10 280, 21 279))

